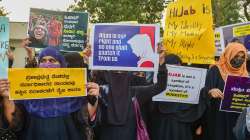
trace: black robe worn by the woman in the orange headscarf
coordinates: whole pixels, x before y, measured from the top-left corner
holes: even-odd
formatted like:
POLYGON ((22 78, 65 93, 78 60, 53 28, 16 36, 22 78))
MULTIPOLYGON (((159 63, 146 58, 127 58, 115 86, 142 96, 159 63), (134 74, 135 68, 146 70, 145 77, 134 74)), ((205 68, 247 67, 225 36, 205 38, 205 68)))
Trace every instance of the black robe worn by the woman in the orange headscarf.
MULTIPOLYGON (((225 82, 221 77, 217 66, 213 66, 207 74, 206 88, 208 91, 218 88, 222 92, 225 82)), ((209 108, 204 115, 204 140, 236 140, 233 135, 233 127, 236 124, 239 113, 219 111, 220 99, 210 99, 209 108)))

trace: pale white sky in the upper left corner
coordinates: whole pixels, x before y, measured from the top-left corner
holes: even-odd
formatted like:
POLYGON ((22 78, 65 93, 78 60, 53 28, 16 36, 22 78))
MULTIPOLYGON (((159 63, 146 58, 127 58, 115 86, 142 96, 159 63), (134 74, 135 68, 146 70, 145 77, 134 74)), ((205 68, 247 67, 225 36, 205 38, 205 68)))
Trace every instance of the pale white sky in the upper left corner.
POLYGON ((74 0, 0 0, 7 12, 10 21, 28 22, 30 8, 66 11, 74 0))

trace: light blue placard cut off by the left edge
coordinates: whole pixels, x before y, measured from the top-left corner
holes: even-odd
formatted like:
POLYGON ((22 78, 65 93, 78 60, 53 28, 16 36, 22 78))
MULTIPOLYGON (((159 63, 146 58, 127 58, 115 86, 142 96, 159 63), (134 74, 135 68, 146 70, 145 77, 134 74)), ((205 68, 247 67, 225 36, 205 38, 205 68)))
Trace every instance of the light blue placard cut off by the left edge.
POLYGON ((0 16, 0 79, 8 78, 9 19, 0 16))

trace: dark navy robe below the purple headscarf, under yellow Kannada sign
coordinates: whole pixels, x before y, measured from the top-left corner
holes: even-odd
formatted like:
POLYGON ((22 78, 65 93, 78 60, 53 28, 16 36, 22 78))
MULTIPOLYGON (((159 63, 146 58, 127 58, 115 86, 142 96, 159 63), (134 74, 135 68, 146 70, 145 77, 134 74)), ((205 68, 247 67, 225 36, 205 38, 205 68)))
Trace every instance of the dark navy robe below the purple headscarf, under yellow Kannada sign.
POLYGON ((30 116, 28 124, 21 133, 23 140, 84 140, 71 115, 46 119, 30 116))

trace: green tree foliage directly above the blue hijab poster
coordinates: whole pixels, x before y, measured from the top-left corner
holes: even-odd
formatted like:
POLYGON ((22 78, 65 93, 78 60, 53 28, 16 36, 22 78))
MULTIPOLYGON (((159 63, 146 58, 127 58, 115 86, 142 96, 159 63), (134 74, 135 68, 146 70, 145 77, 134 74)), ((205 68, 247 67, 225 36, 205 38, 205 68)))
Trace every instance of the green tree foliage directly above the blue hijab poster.
POLYGON ((138 21, 160 23, 166 0, 80 0, 69 7, 87 11, 92 23, 138 21))

